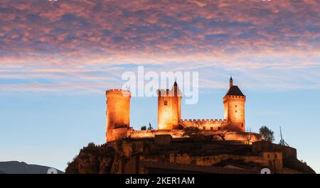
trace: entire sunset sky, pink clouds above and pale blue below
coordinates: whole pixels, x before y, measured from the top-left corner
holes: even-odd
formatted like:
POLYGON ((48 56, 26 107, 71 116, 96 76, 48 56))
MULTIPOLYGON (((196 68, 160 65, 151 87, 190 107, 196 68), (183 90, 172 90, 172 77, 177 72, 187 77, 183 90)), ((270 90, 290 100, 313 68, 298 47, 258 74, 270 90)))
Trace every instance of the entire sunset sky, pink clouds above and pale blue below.
MULTIPOLYGON (((247 128, 268 126, 278 143, 281 126, 320 173, 319 14, 316 0, 1 0, 0 161, 64 170, 105 142, 105 90, 144 66, 198 72, 188 119, 223 118, 232 74, 247 128)), ((131 126, 156 126, 156 108, 156 97, 132 97, 131 126)))

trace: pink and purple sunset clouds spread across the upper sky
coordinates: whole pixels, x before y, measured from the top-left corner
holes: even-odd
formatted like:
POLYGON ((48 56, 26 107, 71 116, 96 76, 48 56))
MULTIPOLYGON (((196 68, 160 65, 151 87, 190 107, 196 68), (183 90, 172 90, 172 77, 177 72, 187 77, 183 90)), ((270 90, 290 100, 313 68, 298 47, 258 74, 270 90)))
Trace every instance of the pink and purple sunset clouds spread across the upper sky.
POLYGON ((230 72, 247 75, 247 87, 319 88, 319 74, 304 74, 320 66, 319 7, 316 0, 3 0, 0 86, 18 89, 7 82, 16 79, 36 90, 46 79, 59 92, 96 91, 121 87, 122 72, 146 65, 199 71, 209 88, 223 87, 230 72), (284 84, 296 77, 302 82, 284 84))

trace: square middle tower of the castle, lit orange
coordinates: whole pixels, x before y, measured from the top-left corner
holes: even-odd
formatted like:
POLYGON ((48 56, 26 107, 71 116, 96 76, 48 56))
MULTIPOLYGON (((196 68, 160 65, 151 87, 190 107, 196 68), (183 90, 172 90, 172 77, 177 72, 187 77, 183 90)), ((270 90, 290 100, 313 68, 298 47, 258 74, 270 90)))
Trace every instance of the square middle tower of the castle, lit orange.
POLYGON ((181 119, 182 93, 174 82, 172 89, 158 90, 158 129, 178 129, 181 119))

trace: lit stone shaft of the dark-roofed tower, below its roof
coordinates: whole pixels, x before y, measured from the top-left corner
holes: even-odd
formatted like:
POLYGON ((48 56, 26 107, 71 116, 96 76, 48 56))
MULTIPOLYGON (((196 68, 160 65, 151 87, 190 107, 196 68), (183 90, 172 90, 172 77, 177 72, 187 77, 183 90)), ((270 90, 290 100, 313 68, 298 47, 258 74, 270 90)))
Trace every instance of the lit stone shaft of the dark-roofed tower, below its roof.
POLYGON ((245 132, 245 96, 225 96, 223 105, 224 118, 230 121, 227 129, 245 132))

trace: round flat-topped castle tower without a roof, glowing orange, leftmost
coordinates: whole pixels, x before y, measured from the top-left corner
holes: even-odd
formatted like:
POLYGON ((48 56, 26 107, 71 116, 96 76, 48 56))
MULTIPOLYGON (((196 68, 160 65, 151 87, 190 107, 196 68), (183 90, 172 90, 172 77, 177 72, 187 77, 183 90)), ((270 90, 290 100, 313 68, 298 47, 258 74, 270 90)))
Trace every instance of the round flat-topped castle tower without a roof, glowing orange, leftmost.
POLYGON ((131 92, 123 89, 110 89, 107 98, 107 142, 127 137, 130 126, 131 92))

